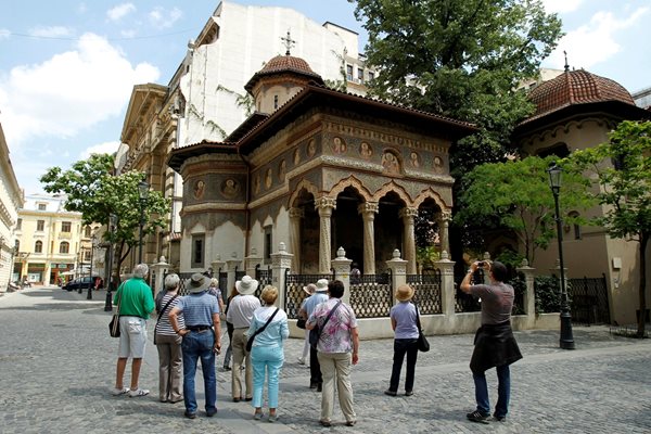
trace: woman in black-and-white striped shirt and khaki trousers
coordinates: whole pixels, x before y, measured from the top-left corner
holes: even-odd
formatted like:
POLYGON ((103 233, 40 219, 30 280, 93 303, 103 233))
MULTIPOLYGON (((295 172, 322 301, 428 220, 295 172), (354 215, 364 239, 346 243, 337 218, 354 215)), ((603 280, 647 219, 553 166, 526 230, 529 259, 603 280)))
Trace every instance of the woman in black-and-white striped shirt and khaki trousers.
MULTIPOLYGON (((158 393, 161 403, 183 400, 181 341, 171 328, 168 314, 179 303, 179 276, 171 273, 165 278, 165 292, 156 297, 158 321, 154 329, 154 342, 158 348, 158 393)), ((183 315, 179 314, 179 329, 184 329, 183 315)))

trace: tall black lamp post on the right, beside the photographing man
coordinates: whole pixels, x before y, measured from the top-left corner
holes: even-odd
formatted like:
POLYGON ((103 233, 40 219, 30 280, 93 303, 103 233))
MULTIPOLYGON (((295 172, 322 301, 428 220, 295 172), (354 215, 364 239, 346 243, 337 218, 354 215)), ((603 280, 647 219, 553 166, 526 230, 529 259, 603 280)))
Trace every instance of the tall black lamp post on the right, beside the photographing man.
POLYGON ((567 288, 565 286, 565 264, 563 263, 563 222, 559 208, 559 193, 561 192, 561 175, 563 169, 556 162, 552 162, 547 169, 549 174, 549 187, 553 194, 556 206, 557 238, 559 240, 559 264, 561 273, 561 340, 562 349, 574 349, 574 337, 572 335, 572 315, 570 314, 570 303, 567 299, 567 288))

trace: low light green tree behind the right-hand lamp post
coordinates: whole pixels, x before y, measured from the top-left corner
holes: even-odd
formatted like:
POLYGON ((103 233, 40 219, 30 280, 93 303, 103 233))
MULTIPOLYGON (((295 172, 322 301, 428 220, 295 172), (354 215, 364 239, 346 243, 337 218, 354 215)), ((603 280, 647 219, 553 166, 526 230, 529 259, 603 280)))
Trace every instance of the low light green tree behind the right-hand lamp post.
MULTIPOLYGON (((524 245, 524 254, 534 263, 537 248, 547 248, 556 234, 554 202, 547 168, 554 156, 529 156, 507 163, 485 163, 467 175, 468 189, 459 197, 455 222, 513 231, 524 245)), ((586 208, 587 181, 578 174, 566 174, 562 209, 586 208)), ((567 222, 577 217, 564 216, 567 222)))

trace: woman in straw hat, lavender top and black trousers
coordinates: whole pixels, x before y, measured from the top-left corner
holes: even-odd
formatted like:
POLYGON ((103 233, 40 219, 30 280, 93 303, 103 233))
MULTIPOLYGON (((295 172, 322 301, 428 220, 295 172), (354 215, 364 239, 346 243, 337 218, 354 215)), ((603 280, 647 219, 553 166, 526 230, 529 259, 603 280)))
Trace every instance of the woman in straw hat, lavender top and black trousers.
POLYGON ((407 375, 405 378, 405 396, 413 394, 413 379, 416 376, 416 359, 418 357, 418 324, 416 306, 411 303, 413 289, 400 285, 396 291, 396 299, 400 303, 391 308, 391 327, 395 332, 394 363, 391 371, 388 388, 385 395, 396 396, 400 382, 403 360, 407 355, 407 375))

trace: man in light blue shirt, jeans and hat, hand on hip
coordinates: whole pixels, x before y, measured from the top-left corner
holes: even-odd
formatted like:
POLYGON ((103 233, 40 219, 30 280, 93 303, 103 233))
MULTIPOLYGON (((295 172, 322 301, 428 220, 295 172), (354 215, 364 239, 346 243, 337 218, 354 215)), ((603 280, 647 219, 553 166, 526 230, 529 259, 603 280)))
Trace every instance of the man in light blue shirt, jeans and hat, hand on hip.
POLYGON ((188 295, 181 297, 169 312, 169 322, 175 332, 183 337, 183 399, 186 418, 196 418, 196 395, 194 376, 196 362, 201 358, 201 369, 206 393, 206 416, 217 413, 217 379, 215 376, 215 356, 221 350, 221 328, 219 324, 219 305, 217 298, 207 290, 210 279, 199 272, 188 281, 188 295), (179 329, 177 317, 183 314, 186 328, 179 329))

